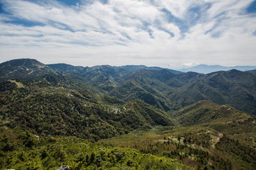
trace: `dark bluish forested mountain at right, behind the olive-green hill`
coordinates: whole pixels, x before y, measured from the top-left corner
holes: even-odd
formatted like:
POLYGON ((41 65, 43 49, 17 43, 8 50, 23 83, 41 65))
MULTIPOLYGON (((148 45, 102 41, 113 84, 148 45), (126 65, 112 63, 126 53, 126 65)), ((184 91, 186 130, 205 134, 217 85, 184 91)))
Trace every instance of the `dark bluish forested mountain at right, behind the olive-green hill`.
POLYGON ((218 104, 230 104, 255 115, 256 76, 237 70, 205 74, 180 87, 169 97, 176 104, 175 108, 206 99, 218 104))

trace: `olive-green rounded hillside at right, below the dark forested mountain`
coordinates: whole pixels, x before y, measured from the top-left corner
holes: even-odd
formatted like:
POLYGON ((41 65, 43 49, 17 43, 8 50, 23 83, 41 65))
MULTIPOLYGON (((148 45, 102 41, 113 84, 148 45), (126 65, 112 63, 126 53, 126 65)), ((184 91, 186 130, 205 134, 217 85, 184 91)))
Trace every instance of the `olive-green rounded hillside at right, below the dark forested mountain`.
POLYGON ((173 117, 186 127, 211 127, 256 148, 256 117, 231 106, 200 101, 176 111, 173 117))

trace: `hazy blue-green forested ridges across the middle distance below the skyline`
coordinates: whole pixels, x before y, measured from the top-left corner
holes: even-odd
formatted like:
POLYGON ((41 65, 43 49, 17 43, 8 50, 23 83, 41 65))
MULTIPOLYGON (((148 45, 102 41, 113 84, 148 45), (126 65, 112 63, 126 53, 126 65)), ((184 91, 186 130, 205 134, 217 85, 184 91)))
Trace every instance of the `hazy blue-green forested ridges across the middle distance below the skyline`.
POLYGON ((173 74, 168 69, 144 67, 95 66, 82 69, 60 64, 50 66, 82 76, 93 86, 107 90, 110 96, 124 101, 141 99, 165 111, 209 100, 256 114, 256 75, 248 72, 233 69, 204 75, 193 72, 173 74))

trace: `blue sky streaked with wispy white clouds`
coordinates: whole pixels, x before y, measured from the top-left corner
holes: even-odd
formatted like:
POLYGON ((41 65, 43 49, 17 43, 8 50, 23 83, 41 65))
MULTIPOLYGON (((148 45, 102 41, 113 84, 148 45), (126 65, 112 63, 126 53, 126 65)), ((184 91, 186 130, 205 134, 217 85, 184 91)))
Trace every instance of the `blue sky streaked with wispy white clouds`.
POLYGON ((0 62, 256 66, 253 0, 0 0, 0 62))

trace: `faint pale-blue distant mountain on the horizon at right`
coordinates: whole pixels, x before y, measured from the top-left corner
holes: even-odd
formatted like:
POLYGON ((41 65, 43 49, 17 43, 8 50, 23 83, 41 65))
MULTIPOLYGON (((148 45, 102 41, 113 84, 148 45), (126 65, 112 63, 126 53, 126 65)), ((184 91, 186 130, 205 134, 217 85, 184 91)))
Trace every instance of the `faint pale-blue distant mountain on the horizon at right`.
POLYGON ((239 71, 250 71, 252 69, 256 69, 256 66, 225 67, 225 66, 220 66, 220 65, 209 66, 209 65, 206 65, 206 64, 200 64, 198 66, 179 69, 179 71, 182 71, 182 72, 193 71, 193 72, 196 72, 196 73, 208 74, 208 73, 212 73, 212 72, 215 72, 215 71, 228 71, 230 69, 237 69, 239 71))

